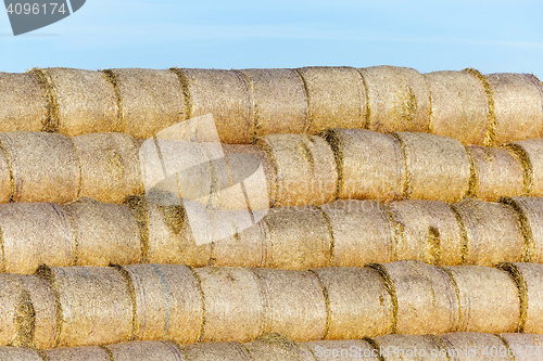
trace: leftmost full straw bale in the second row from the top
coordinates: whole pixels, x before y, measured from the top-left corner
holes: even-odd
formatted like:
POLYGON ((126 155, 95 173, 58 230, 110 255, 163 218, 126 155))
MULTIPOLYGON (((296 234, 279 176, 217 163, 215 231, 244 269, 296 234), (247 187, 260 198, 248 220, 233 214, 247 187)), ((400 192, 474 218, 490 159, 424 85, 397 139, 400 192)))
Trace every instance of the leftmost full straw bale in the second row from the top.
POLYGON ((70 138, 45 132, 0 133, 12 175, 13 202, 66 203, 77 198, 79 165, 70 138))

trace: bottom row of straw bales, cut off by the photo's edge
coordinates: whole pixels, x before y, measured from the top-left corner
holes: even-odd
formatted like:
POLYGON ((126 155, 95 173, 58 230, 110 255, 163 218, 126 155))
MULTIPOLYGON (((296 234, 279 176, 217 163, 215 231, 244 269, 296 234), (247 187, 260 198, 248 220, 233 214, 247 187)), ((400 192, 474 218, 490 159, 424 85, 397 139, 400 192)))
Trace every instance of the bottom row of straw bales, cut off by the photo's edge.
POLYGON ((541 361, 542 341, 536 334, 449 333, 294 343, 269 334, 244 344, 131 341, 47 351, 1 347, 0 357, 4 361, 541 361))

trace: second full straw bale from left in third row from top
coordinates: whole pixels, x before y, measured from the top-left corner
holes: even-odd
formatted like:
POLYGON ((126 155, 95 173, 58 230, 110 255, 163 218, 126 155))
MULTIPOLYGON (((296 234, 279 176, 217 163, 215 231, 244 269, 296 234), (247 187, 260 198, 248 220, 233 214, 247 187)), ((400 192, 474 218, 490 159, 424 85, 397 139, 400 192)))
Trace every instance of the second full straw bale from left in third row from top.
POLYGON ((79 198, 63 208, 71 218, 77 244, 74 266, 140 262, 140 234, 130 208, 91 198, 79 198))

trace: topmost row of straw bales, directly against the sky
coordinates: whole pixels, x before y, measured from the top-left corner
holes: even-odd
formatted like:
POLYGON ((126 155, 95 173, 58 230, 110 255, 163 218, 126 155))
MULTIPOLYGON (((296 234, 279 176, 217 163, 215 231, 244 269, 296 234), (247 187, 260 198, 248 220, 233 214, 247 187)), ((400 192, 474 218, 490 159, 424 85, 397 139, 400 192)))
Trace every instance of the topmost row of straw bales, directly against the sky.
POLYGON ((420 74, 394 66, 0 73, 2 132, 125 132, 143 139, 209 113, 220 141, 230 144, 272 133, 359 128, 492 146, 543 137, 543 85, 529 74, 420 74))

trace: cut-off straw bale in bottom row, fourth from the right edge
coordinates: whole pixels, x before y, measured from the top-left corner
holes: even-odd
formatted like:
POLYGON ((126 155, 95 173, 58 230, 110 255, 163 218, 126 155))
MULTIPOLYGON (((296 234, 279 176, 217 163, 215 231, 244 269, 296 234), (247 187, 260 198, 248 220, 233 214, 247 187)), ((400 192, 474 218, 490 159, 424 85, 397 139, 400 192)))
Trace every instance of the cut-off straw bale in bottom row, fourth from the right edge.
POLYGON ((362 339, 308 341, 299 346, 308 348, 316 361, 380 361, 379 350, 362 339))

